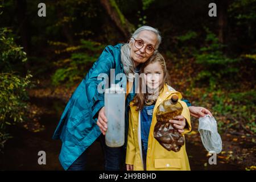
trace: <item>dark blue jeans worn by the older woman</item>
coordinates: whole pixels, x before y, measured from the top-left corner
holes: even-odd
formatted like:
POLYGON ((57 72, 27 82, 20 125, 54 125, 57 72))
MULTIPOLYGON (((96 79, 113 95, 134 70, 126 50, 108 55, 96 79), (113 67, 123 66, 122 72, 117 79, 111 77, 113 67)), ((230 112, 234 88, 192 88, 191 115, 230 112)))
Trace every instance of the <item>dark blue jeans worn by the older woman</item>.
MULTIPOLYGON (((119 171, 125 170, 125 148, 122 147, 108 147, 105 143, 105 136, 100 135, 98 138, 101 142, 101 147, 105 156, 105 170, 119 171)), ((86 152, 85 150, 79 158, 68 168, 68 171, 84 171, 86 167, 86 152)), ((97 160, 97 159, 96 159, 97 160)))

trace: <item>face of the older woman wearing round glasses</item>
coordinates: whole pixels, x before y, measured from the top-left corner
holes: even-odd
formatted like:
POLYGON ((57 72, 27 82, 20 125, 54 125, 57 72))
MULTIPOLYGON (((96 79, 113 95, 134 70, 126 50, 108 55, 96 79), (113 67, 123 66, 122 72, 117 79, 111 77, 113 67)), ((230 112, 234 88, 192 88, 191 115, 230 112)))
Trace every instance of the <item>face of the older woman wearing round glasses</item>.
POLYGON ((141 49, 135 47, 135 40, 133 38, 130 39, 130 56, 133 59, 135 66, 137 67, 141 63, 145 63, 150 56, 153 55, 154 51, 150 54, 146 52, 147 46, 152 46, 155 48, 156 43, 158 42, 157 36, 154 32, 143 30, 141 31, 136 40, 143 40, 144 46, 141 49))

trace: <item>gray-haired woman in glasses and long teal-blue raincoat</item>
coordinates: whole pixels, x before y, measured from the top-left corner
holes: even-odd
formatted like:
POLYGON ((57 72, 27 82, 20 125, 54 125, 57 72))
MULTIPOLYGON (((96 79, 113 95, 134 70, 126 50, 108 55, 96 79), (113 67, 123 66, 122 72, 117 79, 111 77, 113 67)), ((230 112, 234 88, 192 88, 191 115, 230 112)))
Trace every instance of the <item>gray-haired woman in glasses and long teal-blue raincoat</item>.
MULTIPOLYGON (((131 36, 129 43, 107 46, 98 60, 93 64, 86 77, 77 87, 68 101, 59 124, 53 134, 53 139, 61 139, 62 147, 59 155, 61 165, 65 170, 84 170, 86 166, 86 149, 98 138, 105 153, 105 169, 119 170, 125 164, 126 142, 123 147, 108 147, 105 144, 107 119, 105 117, 104 93, 97 91, 100 73, 110 75, 110 69, 118 73, 136 73, 141 64, 146 62, 158 50, 161 43, 159 31, 149 26, 138 28, 131 36), (101 133, 103 135, 101 135, 101 133)), ((126 85, 125 85, 126 88, 126 85)), ((125 104, 125 140, 127 139, 129 103, 135 93, 126 94, 125 104)), ((210 114, 204 107, 189 106, 194 117, 210 114)), ((184 123, 176 121, 179 129, 184 129, 184 123)))

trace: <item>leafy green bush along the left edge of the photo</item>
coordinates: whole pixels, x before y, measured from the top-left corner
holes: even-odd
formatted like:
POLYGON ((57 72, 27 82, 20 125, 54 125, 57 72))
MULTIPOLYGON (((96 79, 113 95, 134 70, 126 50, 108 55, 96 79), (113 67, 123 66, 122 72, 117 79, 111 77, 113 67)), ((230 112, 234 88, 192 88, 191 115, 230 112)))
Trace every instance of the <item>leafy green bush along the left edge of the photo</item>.
POLYGON ((22 47, 15 44, 11 31, 0 29, 0 151, 10 135, 6 133, 7 125, 24 121, 27 111, 27 88, 30 88, 30 73, 23 77, 13 72, 14 65, 27 60, 22 47), (17 63, 18 62, 18 63, 17 63))

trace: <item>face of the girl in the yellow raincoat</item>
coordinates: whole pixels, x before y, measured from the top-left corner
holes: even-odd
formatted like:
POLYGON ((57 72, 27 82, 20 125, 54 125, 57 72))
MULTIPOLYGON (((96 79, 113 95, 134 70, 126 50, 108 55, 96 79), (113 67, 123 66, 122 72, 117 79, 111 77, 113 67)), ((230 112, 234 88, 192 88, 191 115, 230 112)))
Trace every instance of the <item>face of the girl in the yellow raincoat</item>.
POLYGON ((148 88, 156 89, 162 84, 164 73, 162 65, 158 61, 148 64, 144 68, 143 73, 144 80, 146 81, 148 88))

